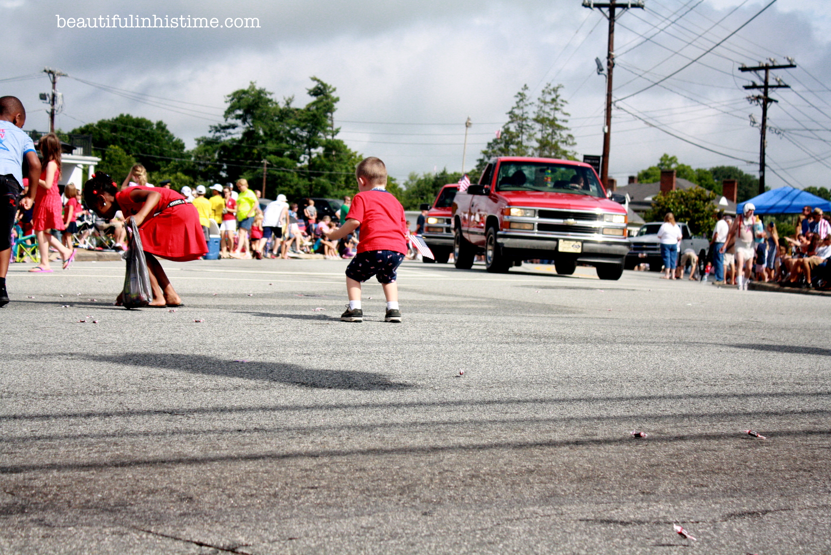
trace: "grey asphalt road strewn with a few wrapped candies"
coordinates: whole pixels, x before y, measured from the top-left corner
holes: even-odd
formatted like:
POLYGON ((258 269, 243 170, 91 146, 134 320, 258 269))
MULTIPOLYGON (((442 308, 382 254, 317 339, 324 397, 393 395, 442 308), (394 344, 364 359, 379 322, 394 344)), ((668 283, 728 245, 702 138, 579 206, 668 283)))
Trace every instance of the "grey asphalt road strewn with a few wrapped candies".
POLYGON ((12 265, 0 553, 831 553, 829 297, 345 266, 12 265))

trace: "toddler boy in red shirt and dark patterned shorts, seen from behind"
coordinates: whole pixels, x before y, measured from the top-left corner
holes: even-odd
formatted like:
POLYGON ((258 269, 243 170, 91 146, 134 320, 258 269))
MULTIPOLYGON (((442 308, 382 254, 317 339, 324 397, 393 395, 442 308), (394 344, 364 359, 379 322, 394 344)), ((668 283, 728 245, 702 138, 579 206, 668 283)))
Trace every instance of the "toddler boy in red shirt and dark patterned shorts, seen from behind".
POLYGON ((386 297, 384 322, 401 322, 396 270, 407 252, 404 207, 386 190, 386 166, 375 156, 361 160, 355 177, 360 192, 352 198, 347 223, 326 233, 330 240, 337 240, 361 227, 357 255, 347 267, 349 305, 341 320, 363 322, 361 282, 376 276, 386 297))

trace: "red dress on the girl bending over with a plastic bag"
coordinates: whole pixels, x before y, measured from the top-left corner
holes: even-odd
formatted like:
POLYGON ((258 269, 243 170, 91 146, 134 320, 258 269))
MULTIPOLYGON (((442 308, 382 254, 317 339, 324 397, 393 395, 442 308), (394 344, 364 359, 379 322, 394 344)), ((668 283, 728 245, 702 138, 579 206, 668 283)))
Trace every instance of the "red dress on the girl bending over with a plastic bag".
POLYGON ((130 199, 130 191, 134 189, 161 194, 159 204, 147 214, 139 227, 141 244, 146 253, 174 262, 188 262, 208 252, 208 243, 205 243, 199 224, 199 212, 173 189, 137 185, 116 193, 116 203, 125 219, 138 214, 144 206, 144 203, 130 199))

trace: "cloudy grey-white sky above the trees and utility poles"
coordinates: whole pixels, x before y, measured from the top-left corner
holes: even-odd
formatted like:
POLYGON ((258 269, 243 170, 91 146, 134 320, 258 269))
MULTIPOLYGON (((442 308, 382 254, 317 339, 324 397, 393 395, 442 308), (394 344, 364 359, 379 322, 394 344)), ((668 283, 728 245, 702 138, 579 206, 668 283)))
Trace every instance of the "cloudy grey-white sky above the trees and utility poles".
MULTIPOLYGON (((829 186, 831 2, 645 0, 618 20, 610 173, 627 175, 661 154, 693 167, 758 170, 760 120, 741 88, 740 63, 793 56, 775 72, 768 184, 829 186), (713 48, 716 43, 723 41, 713 48), (669 76, 706 51, 699 61, 669 76), (660 81, 658 86, 647 86, 660 81), (647 123, 648 122, 648 123, 647 123), (671 136, 669 134, 676 135, 671 136), (705 150, 704 148, 710 150, 705 150), (732 157, 732 158, 731 158, 732 157), (771 171, 774 170, 774 171, 771 171)), ((305 103, 309 76, 337 86, 342 139, 386 161, 391 174, 462 167, 464 122, 474 125, 466 167, 504 123, 524 84, 563 84, 580 154, 602 151, 607 22, 580 0, 285 0, 51 2, 0 0, 7 22, 2 94, 19 96, 27 129, 46 130, 37 98, 43 66, 59 81, 62 130, 122 112, 164 120, 189 146, 222 119, 224 96, 256 81, 305 103), (58 28, 60 18, 258 17, 259 28, 58 28), (23 79, 14 80, 16 77, 23 79), (86 82, 84 82, 86 81, 86 82)))

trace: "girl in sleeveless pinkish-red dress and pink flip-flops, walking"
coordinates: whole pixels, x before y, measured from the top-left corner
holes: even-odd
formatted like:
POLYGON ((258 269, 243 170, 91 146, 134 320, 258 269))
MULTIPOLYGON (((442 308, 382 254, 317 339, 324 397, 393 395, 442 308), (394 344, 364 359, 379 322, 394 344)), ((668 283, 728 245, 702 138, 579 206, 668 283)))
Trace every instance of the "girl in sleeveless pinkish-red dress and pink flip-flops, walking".
POLYGON ((37 236, 37 249, 41 253, 41 263, 29 272, 52 272, 49 268, 49 247, 61 253, 63 269, 75 260, 75 249, 64 247, 60 241, 49 233, 52 229, 63 231, 63 206, 57 180, 61 177, 61 140, 54 133, 43 135, 38 144, 43 155, 43 170, 37 184, 35 209, 32 212, 32 228, 37 236))

